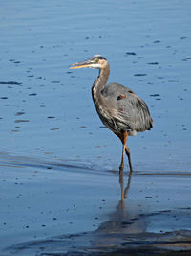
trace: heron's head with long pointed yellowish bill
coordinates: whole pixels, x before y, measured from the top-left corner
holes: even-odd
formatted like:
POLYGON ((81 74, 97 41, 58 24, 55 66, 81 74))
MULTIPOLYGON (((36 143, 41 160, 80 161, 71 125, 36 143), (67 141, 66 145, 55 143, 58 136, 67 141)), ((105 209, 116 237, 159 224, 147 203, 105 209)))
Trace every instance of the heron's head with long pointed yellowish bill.
POLYGON ((100 55, 95 55, 91 58, 88 58, 85 61, 77 62, 72 65, 70 65, 71 69, 74 68, 97 68, 97 69, 103 69, 106 65, 108 65, 108 61, 106 58, 100 56, 100 55))

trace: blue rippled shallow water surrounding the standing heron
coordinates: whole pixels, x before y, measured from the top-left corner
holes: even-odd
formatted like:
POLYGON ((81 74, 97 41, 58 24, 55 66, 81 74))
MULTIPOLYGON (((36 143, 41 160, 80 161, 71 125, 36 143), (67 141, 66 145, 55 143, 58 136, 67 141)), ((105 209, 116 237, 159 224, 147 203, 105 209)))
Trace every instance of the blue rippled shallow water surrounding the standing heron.
POLYGON ((135 177, 125 213, 146 216, 142 234, 190 230, 190 12, 188 0, 1 4, 1 249, 95 236, 111 223, 121 145, 96 115, 97 71, 68 69, 94 54, 109 60, 109 81, 131 87, 154 119, 128 141, 135 177))

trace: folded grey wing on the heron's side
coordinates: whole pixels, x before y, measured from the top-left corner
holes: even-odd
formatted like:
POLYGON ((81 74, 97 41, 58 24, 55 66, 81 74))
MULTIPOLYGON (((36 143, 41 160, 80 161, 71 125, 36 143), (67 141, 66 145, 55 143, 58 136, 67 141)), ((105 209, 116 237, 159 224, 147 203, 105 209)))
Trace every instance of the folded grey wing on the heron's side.
POLYGON ((102 95, 117 131, 129 130, 134 135, 152 128, 153 120, 147 105, 131 89, 110 83, 103 89, 102 95))

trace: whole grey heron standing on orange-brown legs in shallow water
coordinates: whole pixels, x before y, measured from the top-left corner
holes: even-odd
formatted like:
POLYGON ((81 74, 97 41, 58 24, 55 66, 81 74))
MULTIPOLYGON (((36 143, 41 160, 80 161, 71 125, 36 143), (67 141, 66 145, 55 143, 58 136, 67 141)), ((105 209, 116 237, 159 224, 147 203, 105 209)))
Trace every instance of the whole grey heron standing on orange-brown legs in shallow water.
POLYGON ((127 147, 129 136, 150 130, 153 119, 146 103, 130 88, 119 83, 106 84, 110 75, 110 65, 106 58, 95 55, 85 61, 76 62, 70 69, 94 68, 99 70, 92 86, 92 98, 97 114, 107 128, 112 130, 122 143, 122 157, 119 173, 124 169, 125 152, 130 173, 133 172, 130 150, 127 147))

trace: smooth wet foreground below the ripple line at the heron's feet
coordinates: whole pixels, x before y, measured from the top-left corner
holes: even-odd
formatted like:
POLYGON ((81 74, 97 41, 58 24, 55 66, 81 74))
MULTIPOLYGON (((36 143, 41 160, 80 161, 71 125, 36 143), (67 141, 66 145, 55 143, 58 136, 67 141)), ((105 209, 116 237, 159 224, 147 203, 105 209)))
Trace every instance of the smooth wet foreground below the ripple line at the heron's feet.
POLYGON ((134 172, 122 202, 127 174, 5 158, 3 255, 191 251, 191 175, 134 172))

